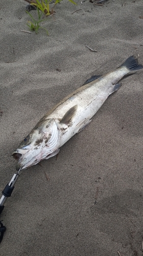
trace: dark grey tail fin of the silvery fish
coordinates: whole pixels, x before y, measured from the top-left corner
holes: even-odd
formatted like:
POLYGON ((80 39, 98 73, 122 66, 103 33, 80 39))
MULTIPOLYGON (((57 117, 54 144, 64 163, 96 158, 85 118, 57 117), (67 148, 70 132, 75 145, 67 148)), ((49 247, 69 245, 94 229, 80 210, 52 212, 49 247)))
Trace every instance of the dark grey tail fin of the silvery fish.
POLYGON ((126 67, 127 69, 132 71, 137 71, 143 69, 142 65, 138 64, 138 60, 132 55, 120 67, 126 67))

